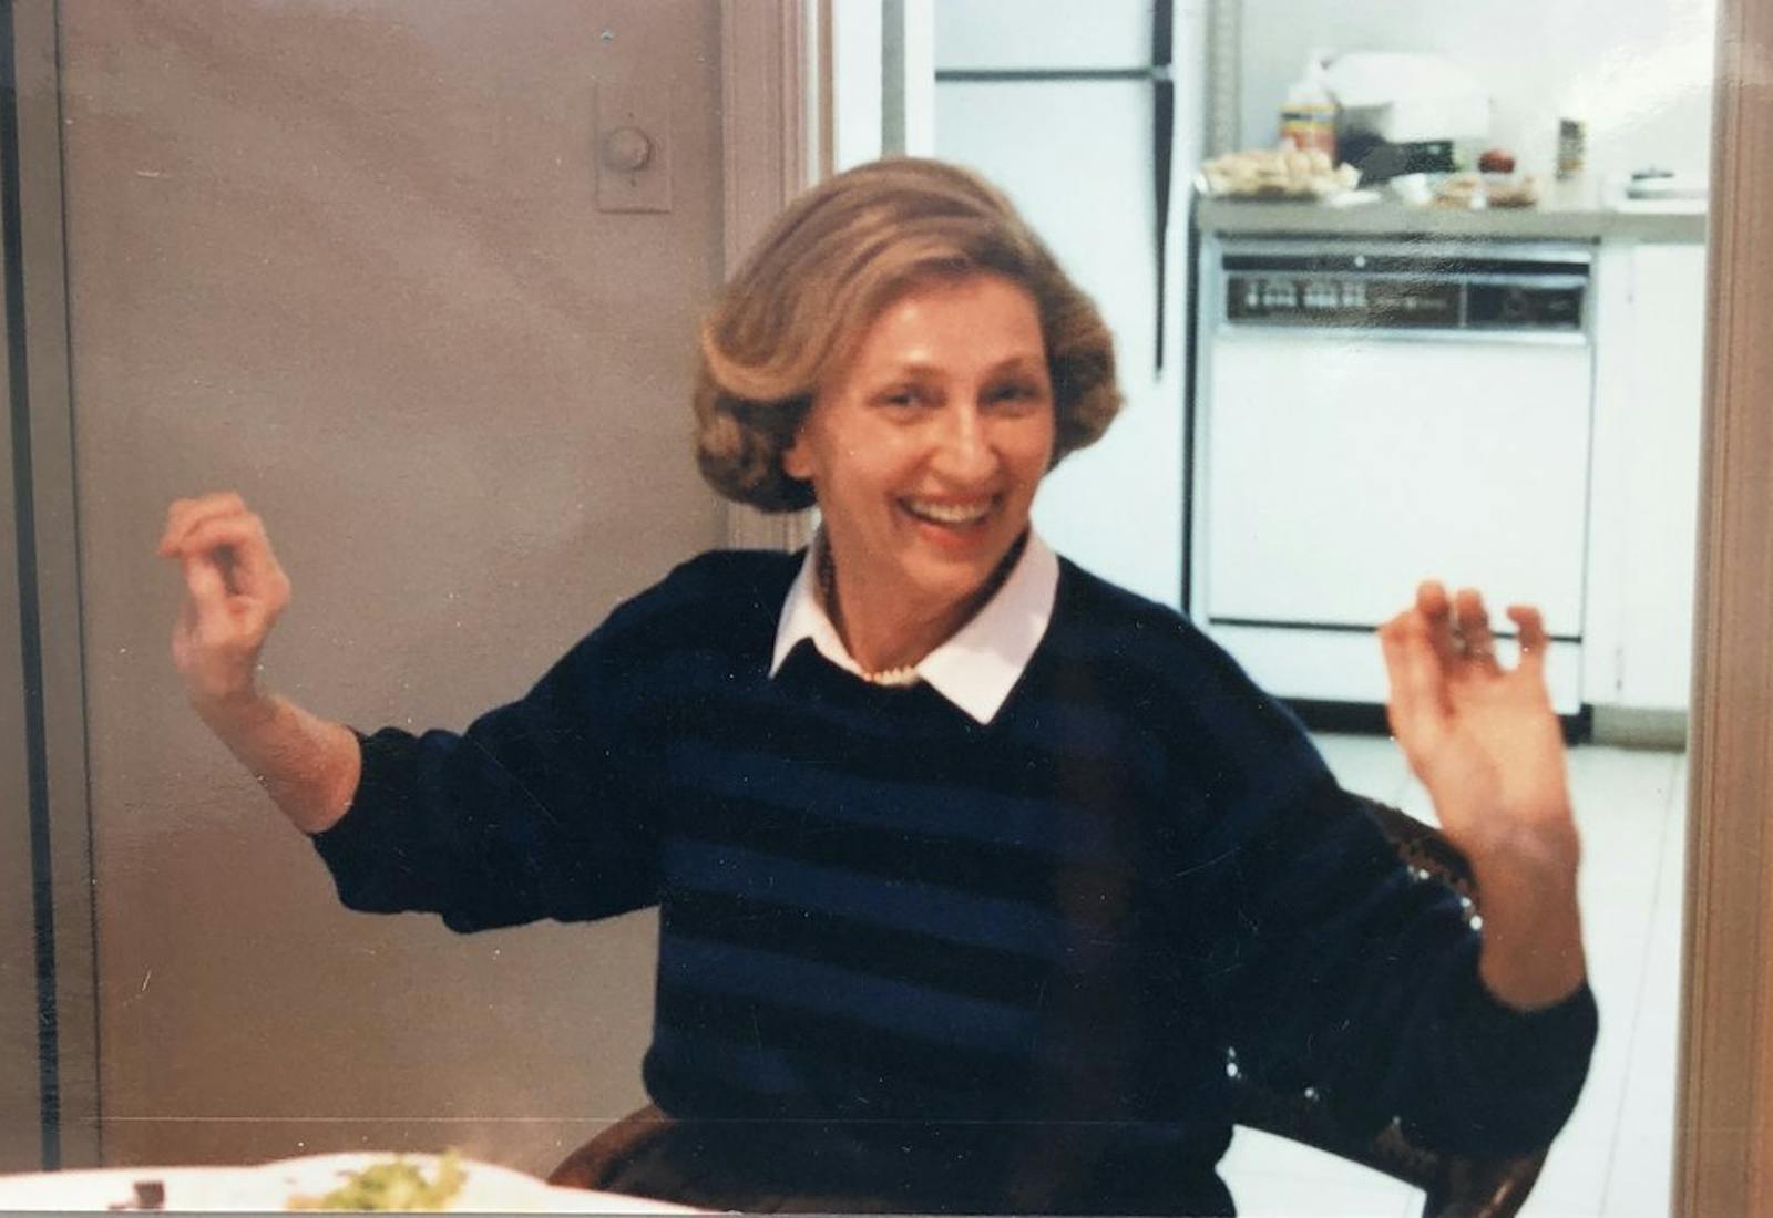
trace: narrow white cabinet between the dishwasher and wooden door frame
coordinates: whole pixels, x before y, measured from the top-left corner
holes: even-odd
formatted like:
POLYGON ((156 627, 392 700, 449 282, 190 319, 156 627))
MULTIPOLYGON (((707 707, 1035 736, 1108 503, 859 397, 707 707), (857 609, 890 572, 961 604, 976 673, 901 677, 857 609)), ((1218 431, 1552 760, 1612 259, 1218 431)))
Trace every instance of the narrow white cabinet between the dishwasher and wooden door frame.
POLYGON ((1686 710, 1706 246, 1605 243, 1596 280, 1583 699, 1686 710))

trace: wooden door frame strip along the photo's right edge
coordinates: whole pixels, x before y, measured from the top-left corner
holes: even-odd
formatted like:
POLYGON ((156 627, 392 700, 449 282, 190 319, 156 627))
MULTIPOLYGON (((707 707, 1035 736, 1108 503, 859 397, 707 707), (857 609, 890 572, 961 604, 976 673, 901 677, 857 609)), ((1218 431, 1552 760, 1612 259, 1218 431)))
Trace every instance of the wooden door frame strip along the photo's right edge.
POLYGON ((1674 1213, 1768 1218, 1773 5, 1720 0, 1716 48, 1674 1213))

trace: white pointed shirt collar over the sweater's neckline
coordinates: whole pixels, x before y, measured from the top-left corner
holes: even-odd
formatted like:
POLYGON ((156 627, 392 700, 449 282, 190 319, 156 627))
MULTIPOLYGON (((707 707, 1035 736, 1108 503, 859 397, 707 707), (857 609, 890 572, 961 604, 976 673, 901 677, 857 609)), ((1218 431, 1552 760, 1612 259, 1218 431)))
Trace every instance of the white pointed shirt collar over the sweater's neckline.
MULTIPOLYGON (((807 547, 800 574, 782 602, 775 655, 769 660, 771 676, 801 639, 812 639, 819 655, 832 664, 862 673, 819 604, 816 561, 821 545, 823 533, 807 547)), ((1028 667, 1034 648, 1041 644, 1053 620, 1057 593, 1058 556, 1030 533, 1004 586, 947 643, 917 662, 918 678, 973 721, 991 722, 1028 667)))

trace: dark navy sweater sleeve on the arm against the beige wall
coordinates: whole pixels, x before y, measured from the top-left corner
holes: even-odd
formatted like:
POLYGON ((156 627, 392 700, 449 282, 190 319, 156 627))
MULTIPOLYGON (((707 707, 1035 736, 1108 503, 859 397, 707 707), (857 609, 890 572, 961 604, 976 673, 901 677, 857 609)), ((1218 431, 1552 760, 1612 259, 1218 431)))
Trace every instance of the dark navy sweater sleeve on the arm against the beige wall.
POLYGON ((461 735, 358 736, 353 804, 314 837, 344 905, 440 914, 473 931, 654 899, 654 829, 606 630, 461 735))

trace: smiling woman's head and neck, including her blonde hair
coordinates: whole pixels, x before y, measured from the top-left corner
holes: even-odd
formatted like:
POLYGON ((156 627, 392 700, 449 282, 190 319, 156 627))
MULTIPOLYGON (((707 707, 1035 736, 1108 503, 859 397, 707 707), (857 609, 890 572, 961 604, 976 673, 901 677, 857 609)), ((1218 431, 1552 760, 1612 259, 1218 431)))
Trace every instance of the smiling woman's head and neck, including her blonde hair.
POLYGON ((702 354, 702 471, 764 510, 819 503, 863 671, 910 669, 979 609, 1041 478, 1121 404, 1090 301, 998 191, 933 161, 801 198, 702 354))

